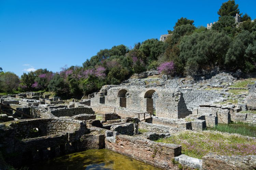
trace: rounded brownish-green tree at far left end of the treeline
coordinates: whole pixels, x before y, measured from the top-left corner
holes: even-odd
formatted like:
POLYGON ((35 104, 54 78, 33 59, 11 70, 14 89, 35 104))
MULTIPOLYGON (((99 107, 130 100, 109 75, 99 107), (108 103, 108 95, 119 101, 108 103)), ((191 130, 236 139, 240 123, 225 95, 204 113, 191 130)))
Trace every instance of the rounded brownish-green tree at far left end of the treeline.
POLYGON ((12 72, 0 73, 0 87, 4 92, 13 92, 18 88, 19 77, 12 72))

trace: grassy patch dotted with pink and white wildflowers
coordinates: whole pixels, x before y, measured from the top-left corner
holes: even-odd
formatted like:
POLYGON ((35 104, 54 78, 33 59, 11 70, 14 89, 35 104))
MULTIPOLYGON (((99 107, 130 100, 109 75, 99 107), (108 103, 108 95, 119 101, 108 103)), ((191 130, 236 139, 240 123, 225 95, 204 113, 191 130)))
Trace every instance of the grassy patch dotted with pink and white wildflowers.
POLYGON ((199 159, 208 153, 230 156, 256 154, 256 139, 218 131, 185 130, 156 141, 181 145, 182 154, 199 159))

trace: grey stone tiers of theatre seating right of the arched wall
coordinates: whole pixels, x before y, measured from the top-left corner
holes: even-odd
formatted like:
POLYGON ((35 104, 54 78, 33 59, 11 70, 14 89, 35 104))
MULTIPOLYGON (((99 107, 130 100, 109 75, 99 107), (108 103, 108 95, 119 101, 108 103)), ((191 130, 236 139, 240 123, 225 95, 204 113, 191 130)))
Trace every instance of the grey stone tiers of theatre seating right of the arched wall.
POLYGON ((193 90, 184 92, 183 98, 188 109, 198 107, 200 104, 213 103, 223 98, 222 93, 218 90, 193 90))

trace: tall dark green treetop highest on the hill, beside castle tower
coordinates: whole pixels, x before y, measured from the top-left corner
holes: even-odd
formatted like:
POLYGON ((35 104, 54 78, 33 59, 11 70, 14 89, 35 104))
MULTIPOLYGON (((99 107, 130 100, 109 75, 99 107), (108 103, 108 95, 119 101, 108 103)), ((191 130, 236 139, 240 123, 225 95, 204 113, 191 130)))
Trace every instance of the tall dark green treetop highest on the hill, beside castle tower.
POLYGON ((227 15, 236 16, 237 13, 239 14, 240 11, 238 4, 236 4, 234 0, 228 0, 227 2, 224 2, 218 11, 219 18, 227 15))

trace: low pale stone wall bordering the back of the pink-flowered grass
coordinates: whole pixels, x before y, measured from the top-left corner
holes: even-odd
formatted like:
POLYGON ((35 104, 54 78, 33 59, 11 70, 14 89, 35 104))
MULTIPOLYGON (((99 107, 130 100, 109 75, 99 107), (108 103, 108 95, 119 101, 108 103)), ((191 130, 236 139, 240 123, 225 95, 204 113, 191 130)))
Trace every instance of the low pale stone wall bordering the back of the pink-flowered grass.
POLYGON ((179 132, 179 130, 177 128, 172 128, 172 127, 166 126, 166 125, 146 123, 146 122, 139 122, 139 128, 148 130, 150 132, 157 132, 157 133, 179 132))

